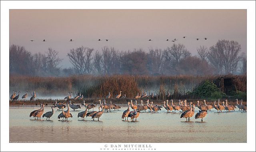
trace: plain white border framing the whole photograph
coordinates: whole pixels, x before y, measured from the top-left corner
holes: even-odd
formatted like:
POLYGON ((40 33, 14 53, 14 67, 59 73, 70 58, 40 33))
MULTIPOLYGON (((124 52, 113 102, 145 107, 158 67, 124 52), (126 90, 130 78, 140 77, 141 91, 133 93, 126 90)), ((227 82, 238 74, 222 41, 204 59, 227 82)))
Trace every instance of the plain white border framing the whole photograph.
MULTIPOLYGON (((9 9, 247 9, 247 143, 150 143, 157 151, 255 151, 255 1, 1 1, 1 151, 98 151, 104 143, 9 143, 9 9), (185 146, 186 145, 186 146, 185 146), (217 149, 215 147, 220 146, 217 149), (59 148, 63 147, 63 148, 59 148), (76 148, 74 148, 76 147, 76 148), (169 148, 168 148, 169 147, 169 148)), ((235 119, 234 119, 235 121, 235 119)), ((171 138, 171 137, 170 137, 171 138)), ((110 144, 110 143, 108 143, 110 144)), ((127 150, 126 150, 127 151, 127 150)))

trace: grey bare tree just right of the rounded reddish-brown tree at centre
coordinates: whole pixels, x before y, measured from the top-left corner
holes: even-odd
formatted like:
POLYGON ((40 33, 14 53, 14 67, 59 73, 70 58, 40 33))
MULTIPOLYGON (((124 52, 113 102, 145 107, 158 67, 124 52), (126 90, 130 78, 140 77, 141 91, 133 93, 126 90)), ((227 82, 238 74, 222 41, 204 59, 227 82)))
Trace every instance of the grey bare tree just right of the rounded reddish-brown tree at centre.
POLYGON ((151 74, 159 74, 163 71, 164 65, 164 54, 161 49, 153 48, 149 49, 148 54, 148 70, 151 74))

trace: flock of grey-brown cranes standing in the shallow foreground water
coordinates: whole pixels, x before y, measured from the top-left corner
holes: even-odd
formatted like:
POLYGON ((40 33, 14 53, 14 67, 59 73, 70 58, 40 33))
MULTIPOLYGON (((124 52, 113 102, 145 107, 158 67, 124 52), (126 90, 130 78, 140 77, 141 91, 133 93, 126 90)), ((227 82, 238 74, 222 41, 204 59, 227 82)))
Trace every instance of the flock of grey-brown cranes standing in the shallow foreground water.
MULTIPOLYGON (((121 92, 120 94, 117 94, 115 96, 115 98, 120 98, 121 97, 121 92)), ((35 92, 34 92, 35 94, 35 92)), ((71 92, 72 94, 72 92, 71 92)), ((69 93, 67 97, 65 97, 64 99, 70 99, 71 98, 71 94, 69 93)), ((81 95, 80 95, 81 96, 81 95)), ((79 97, 80 97, 79 96, 79 97)), ((77 97, 77 96, 76 96, 77 97)), ((74 99, 76 98, 74 97, 74 99)), ((110 98, 110 93, 106 96, 106 98, 110 98)), ((136 96, 135 96, 136 98, 136 96)), ((194 112, 195 112, 195 106, 197 106, 200 110, 198 113, 196 113, 195 115, 195 119, 201 118, 201 121, 203 121, 203 118, 207 115, 207 111, 211 110, 213 108, 215 108, 217 110, 217 112, 222 112, 222 110, 226 110, 226 112, 230 112, 231 110, 235 110, 236 106, 237 108, 239 108, 239 110, 243 110, 246 111, 247 110, 247 106, 241 103, 238 104, 238 99, 236 99, 236 106, 234 105, 228 105, 228 100, 225 100, 225 102, 223 101, 222 104, 220 104, 220 99, 218 99, 218 104, 216 104, 216 101, 214 101, 214 105, 208 105, 206 104, 206 100, 203 100, 204 104, 201 105, 199 104, 199 101, 196 101, 197 104, 194 105, 192 102, 190 102, 189 106, 187 105, 187 101, 186 100, 179 100, 179 104, 173 104, 173 100, 171 101, 171 105, 168 104, 169 100, 164 101, 164 108, 167 110, 167 112, 173 112, 176 113, 176 111, 179 111, 181 114, 180 118, 186 118, 186 121, 190 121, 190 118, 192 116, 194 116, 194 112), (184 105, 183 105, 184 103, 184 105)), ((84 105, 85 110, 82 112, 78 113, 78 118, 81 117, 82 120, 84 120, 84 117, 91 117, 92 120, 94 120, 95 118, 98 118, 98 120, 100 119, 100 117, 102 116, 102 114, 105 112, 110 112, 112 109, 114 110, 118 110, 121 107, 117 106, 116 104, 112 104, 112 102, 110 101, 110 104, 106 104, 106 100, 104 99, 102 102, 101 100, 98 100, 100 106, 98 107, 98 111, 92 111, 92 112, 88 112, 88 110, 92 109, 94 110, 94 108, 97 106, 95 106, 94 104, 86 104, 85 101, 83 101, 84 103, 82 105, 84 105)), ((154 106, 153 102, 149 102, 149 99, 146 101, 147 104, 144 105, 143 101, 140 100, 141 104, 137 104, 137 100, 134 100, 135 104, 132 103, 133 101, 130 100, 130 102, 127 102, 128 104, 128 108, 127 110, 124 110, 123 114, 122 114, 122 120, 124 119, 126 121, 126 118, 128 120, 128 117, 130 117, 131 121, 136 121, 137 118, 140 116, 140 112, 148 110, 148 112, 158 112, 161 110, 161 108, 163 108, 162 106, 154 106), (130 105, 131 108, 133 110, 130 111, 130 105)), ((58 119, 62 118, 62 120, 65 119, 65 121, 68 120, 68 118, 72 118, 72 114, 70 113, 70 108, 72 108, 74 111, 78 108, 81 108, 81 106, 79 104, 71 104, 71 101, 69 101, 66 105, 65 104, 60 104, 57 103, 57 100, 55 100, 54 106, 52 106, 52 111, 46 112, 44 113, 44 104, 40 104, 41 108, 38 110, 34 110, 33 112, 30 113, 30 117, 33 116, 36 120, 37 119, 41 119, 41 116, 44 118, 46 117, 46 120, 50 120, 50 117, 52 117, 52 115, 54 114, 54 108, 58 107, 59 110, 62 110, 62 112, 58 115, 58 119), (68 110, 64 111, 64 108, 68 108, 68 110)), ((238 111, 239 111, 238 110, 238 111)))

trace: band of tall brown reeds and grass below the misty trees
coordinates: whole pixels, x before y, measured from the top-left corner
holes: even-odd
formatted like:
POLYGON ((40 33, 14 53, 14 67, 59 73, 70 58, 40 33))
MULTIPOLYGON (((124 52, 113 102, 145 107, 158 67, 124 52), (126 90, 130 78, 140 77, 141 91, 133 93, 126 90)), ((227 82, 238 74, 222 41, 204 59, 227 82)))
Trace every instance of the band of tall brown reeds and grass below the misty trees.
MULTIPOLYGON (((133 98, 137 93, 160 94, 164 99, 170 91, 172 98, 190 98, 186 96, 204 80, 214 81, 220 76, 133 76, 133 75, 112 75, 92 76, 76 75, 69 77, 30 77, 10 76, 10 93, 12 90, 34 91, 45 95, 63 95, 73 91, 84 94, 87 98, 104 98, 110 92, 113 97, 122 91, 122 95, 133 98)), ((236 76, 237 79, 246 80, 246 75, 236 76)), ((246 81, 241 81, 239 87, 245 87, 246 81), (245 85, 245 86, 243 86, 245 85)))

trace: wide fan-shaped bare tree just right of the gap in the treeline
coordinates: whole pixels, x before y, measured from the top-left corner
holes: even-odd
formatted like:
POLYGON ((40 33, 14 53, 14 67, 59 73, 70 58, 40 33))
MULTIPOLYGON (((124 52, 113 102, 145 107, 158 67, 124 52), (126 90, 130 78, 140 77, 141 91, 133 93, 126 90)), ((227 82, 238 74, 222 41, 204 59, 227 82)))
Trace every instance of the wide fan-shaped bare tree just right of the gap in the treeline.
POLYGON ((74 68, 80 73, 90 73, 92 70, 92 51, 93 48, 86 48, 81 46, 76 49, 71 49, 68 53, 68 58, 74 68))

